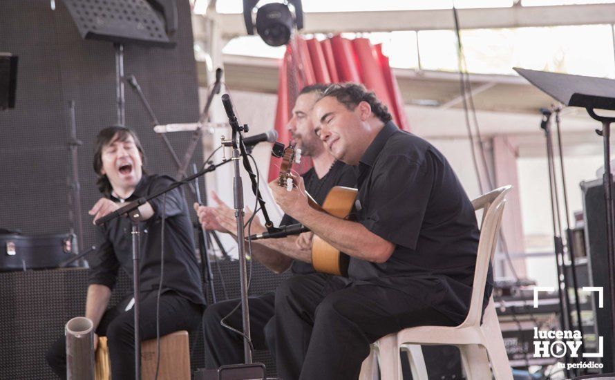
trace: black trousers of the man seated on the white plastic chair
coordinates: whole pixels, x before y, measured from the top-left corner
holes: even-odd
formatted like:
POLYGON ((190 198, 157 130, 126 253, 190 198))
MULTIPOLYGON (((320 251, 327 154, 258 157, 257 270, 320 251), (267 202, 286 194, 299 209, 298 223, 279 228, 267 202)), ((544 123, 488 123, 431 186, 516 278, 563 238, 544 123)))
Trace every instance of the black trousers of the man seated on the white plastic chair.
POLYGON ((412 296, 347 285, 325 274, 294 276, 276 290, 276 364, 284 380, 357 379, 370 343, 406 327, 455 325, 412 296))

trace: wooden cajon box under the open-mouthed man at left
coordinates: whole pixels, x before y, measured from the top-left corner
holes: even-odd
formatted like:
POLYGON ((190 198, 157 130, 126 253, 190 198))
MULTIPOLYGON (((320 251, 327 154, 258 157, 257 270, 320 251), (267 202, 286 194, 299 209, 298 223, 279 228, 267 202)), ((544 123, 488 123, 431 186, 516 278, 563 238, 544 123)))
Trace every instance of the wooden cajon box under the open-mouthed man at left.
MULTIPOLYGON (((154 379, 156 374, 156 340, 141 343, 141 378, 154 379)), ((98 339, 95 379, 111 380, 111 363, 106 336, 98 339)), ((188 332, 176 331, 160 338, 159 380, 190 380, 190 348, 188 332)))

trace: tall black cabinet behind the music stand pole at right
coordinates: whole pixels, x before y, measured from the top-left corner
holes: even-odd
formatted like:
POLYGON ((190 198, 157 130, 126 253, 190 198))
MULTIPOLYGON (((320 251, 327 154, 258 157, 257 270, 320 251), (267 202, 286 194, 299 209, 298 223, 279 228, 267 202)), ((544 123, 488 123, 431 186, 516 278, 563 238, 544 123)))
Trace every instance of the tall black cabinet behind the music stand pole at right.
POLYGON ((594 292, 596 330, 604 339, 604 355, 601 362, 603 372, 613 372, 613 332, 611 299, 609 292, 609 259, 607 257, 605 192, 603 180, 580 183, 583 191, 583 212, 585 216, 585 244, 589 257, 589 283, 604 287, 604 306, 598 307, 598 292, 594 292))

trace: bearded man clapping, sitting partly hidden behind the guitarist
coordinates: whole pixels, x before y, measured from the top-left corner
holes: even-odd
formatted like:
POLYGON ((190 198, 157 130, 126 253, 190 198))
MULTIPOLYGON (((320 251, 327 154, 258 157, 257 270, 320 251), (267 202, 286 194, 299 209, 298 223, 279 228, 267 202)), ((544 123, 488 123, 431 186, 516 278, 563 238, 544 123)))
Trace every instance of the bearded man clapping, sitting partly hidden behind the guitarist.
MULTIPOLYGON (((306 86, 301 90, 292 110, 292 119, 287 128, 292 134, 296 148, 301 154, 312 158, 314 167, 303 175, 305 187, 314 196, 316 202, 322 203, 329 190, 336 185, 354 186, 356 178, 354 172, 346 164, 326 151, 323 142, 314 133, 312 124, 312 107, 314 102, 327 88, 323 84, 306 86)), ((205 207, 195 204, 199 221, 205 229, 215 229, 236 234, 235 210, 231 209, 213 193, 212 198, 218 206, 205 207)), ((248 216, 249 218, 249 216, 248 216)), ((281 225, 292 225, 296 220, 285 215, 281 225)), ((258 218, 252 222, 252 234, 261 234, 267 231, 258 218)), ((247 231, 246 231, 247 234, 247 231)), ((260 263, 276 273, 291 269, 293 274, 307 276, 328 276, 315 274, 311 260, 311 232, 301 234, 301 237, 287 236, 286 238, 256 240, 252 243, 252 256, 260 263)), ((250 332, 254 348, 263 350, 268 348, 274 354, 274 292, 261 294, 249 298, 250 332)), ((242 336, 220 326, 220 319, 227 316, 239 303, 238 300, 222 301, 209 305, 205 312, 205 341, 207 348, 214 359, 214 367, 220 365, 243 363, 242 336)), ((239 312, 231 314, 226 323, 237 330, 241 330, 241 315, 239 312)))

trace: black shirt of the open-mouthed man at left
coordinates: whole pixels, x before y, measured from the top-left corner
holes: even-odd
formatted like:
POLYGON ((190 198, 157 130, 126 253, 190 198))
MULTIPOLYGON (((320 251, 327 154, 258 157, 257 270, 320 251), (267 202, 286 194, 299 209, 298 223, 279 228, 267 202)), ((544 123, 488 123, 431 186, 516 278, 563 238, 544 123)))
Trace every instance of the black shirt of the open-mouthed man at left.
MULTIPOLYGON (((127 201, 146 197, 175 182, 167 175, 143 175, 127 201)), ((119 201, 113 196, 114 202, 119 201)), ((146 297, 158 291, 160 251, 162 247, 162 205, 164 196, 149 201, 154 215, 140 222, 141 294, 146 297)), ((167 193, 164 200, 164 278, 162 292, 173 291, 187 300, 205 305, 198 263, 194 254, 192 223, 181 187, 167 193)), ((133 276, 131 221, 125 216, 97 227, 97 252, 92 261, 89 283, 115 286, 117 269, 122 267, 133 276)))

